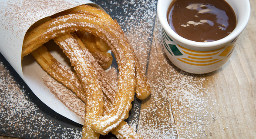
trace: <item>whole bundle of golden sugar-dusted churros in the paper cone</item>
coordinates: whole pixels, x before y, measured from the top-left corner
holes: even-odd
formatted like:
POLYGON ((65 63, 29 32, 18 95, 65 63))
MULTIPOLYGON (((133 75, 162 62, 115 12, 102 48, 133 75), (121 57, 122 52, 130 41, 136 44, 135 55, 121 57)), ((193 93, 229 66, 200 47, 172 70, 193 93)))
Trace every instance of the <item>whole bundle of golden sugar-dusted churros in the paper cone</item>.
POLYGON ((30 53, 51 77, 86 104, 84 139, 98 139, 108 132, 121 139, 141 139, 124 119, 135 92, 145 99, 151 88, 124 32, 107 13, 81 5, 54 15, 26 33, 22 57, 30 53), (61 47, 75 72, 54 59, 44 46, 49 40, 61 47), (118 63, 118 89, 113 89, 104 71, 112 63, 108 50, 118 63))

